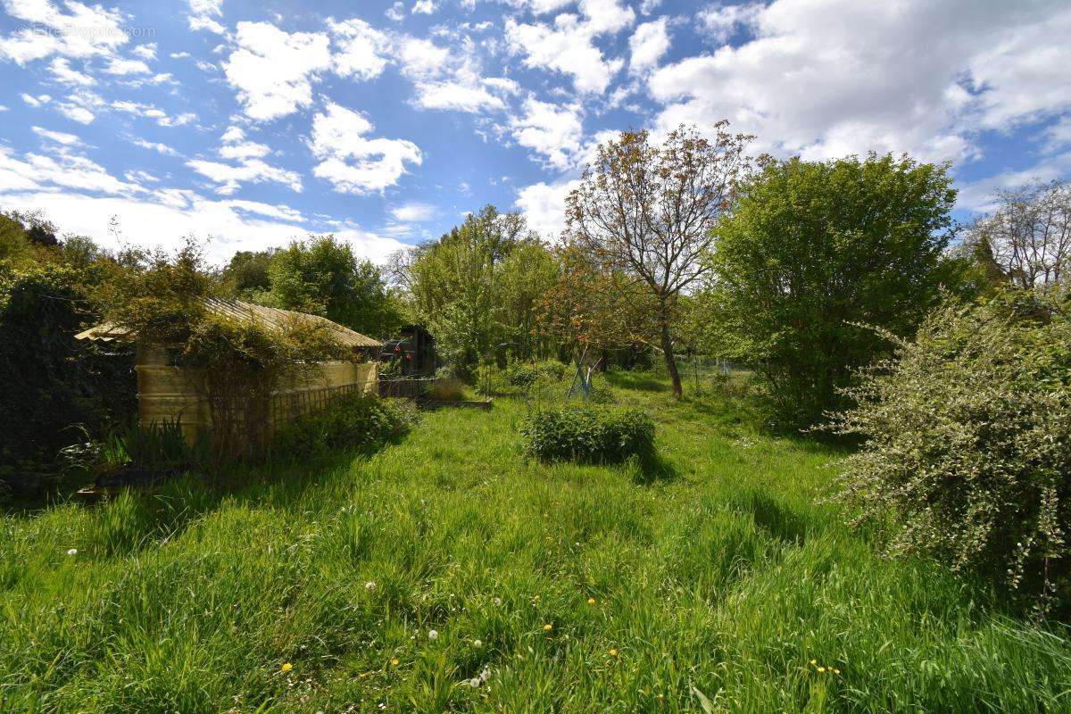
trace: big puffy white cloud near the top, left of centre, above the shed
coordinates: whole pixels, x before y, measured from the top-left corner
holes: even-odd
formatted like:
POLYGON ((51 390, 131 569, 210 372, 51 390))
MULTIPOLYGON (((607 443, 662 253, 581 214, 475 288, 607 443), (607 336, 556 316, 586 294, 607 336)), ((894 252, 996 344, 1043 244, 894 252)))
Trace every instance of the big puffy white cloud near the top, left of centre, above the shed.
POLYGON ((239 22, 237 42, 239 49, 223 66, 246 117, 270 121, 313 103, 312 82, 331 65, 328 35, 288 33, 269 22, 239 22))

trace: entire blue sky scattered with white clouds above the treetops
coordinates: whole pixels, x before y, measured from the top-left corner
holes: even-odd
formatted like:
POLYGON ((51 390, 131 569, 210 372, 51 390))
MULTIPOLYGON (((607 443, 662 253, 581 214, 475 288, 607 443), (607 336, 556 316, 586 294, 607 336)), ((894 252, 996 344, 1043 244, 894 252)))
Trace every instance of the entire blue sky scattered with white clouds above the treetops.
POLYGON ((722 118, 951 161, 961 217, 1071 174, 1067 0, 0 2, 0 208, 109 245, 550 234, 600 140, 722 118))

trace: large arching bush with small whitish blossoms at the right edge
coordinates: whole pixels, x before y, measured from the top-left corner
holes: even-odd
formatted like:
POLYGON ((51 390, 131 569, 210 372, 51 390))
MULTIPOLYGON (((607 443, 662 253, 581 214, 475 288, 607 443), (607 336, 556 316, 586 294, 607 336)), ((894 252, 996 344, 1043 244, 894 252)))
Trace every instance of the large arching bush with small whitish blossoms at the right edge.
MULTIPOLYGON (((887 335, 892 338, 891 335, 887 335)), ((921 551, 1022 593, 1069 594, 1071 319, 1028 293, 949 303, 847 391, 865 443, 838 498, 921 551)))

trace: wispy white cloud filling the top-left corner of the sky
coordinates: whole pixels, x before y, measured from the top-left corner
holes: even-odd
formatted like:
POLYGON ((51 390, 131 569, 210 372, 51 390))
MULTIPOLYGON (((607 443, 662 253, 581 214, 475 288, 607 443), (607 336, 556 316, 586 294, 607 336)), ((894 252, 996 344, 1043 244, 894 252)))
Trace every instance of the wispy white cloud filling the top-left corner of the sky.
POLYGON ((130 39, 122 12, 75 0, 63 5, 69 13, 49 0, 4 0, 4 10, 20 21, 19 29, 0 37, 0 58, 21 66, 50 55, 111 57, 130 39))

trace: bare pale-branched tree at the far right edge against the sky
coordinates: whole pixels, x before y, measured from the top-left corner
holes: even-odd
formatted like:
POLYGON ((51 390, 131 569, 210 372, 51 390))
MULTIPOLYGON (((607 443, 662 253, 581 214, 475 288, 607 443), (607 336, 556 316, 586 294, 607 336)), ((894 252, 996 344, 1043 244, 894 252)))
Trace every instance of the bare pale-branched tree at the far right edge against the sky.
POLYGON ((1036 181, 996 195, 996 210, 970 226, 967 246, 987 250, 1005 278, 1050 290, 1071 270, 1071 182, 1036 181))

